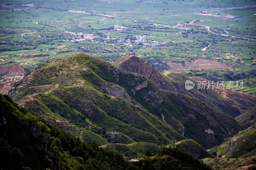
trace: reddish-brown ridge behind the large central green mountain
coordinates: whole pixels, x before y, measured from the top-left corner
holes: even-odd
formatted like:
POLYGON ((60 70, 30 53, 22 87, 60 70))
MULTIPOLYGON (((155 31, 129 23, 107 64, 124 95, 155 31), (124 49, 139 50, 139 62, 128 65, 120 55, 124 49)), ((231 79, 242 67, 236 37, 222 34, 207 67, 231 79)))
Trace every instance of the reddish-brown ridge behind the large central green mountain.
POLYGON ((198 81, 207 82, 207 80, 203 78, 197 78, 197 77, 189 78, 185 75, 182 75, 176 72, 161 74, 158 70, 156 70, 153 66, 147 63, 145 60, 135 55, 124 57, 116 62, 112 62, 112 64, 126 71, 132 71, 132 72, 136 72, 146 76, 148 79, 152 80, 159 88, 163 90, 169 90, 172 92, 186 94, 191 97, 195 97, 199 100, 202 100, 207 105, 223 113, 231 115, 232 117, 236 117, 237 115, 241 114, 239 109, 241 110, 251 109, 252 107, 255 106, 255 103, 256 103, 256 96, 231 91, 228 89, 198 90, 194 88, 189 91, 185 90, 186 80, 190 80, 195 84, 197 84, 198 81), (245 101, 241 99, 242 97, 245 101), (218 99, 219 101, 215 101, 216 99, 218 99), (235 104, 236 102, 240 102, 243 104, 236 106, 235 104), (246 103, 246 105, 244 103, 246 103))

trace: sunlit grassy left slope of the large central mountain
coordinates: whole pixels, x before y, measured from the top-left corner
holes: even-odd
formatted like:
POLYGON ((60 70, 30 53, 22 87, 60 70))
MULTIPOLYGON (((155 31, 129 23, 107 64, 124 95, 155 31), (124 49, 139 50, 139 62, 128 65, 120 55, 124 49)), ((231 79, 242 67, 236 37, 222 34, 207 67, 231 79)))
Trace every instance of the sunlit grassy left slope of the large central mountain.
MULTIPOLYGON (((24 106, 33 112, 41 112, 40 115, 48 118, 76 125, 79 130, 89 129, 93 132, 114 127, 117 132, 122 132, 137 142, 164 139, 170 143, 171 139, 165 134, 171 138, 184 139, 171 126, 145 109, 100 90, 96 86, 97 82, 107 82, 102 78, 114 81, 112 72, 106 69, 108 65, 111 66, 88 55, 56 60, 31 73, 28 77, 32 81, 25 83, 19 88, 20 93, 12 97, 19 103, 25 103, 24 106), (23 96, 26 96, 25 99, 23 96)), ((88 133, 87 131, 85 134, 88 133)), ((98 144, 106 143, 102 135, 93 137, 95 136, 98 144)), ((87 140, 91 139, 89 137, 87 140)))

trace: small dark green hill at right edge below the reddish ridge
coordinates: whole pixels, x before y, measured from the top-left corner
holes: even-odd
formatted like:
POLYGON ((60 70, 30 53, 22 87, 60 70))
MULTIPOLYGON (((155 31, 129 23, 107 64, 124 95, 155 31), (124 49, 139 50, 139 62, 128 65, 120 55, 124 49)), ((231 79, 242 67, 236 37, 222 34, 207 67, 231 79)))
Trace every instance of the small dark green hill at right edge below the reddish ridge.
POLYGON ((256 107, 235 117, 235 119, 244 128, 249 128, 256 122, 256 107))

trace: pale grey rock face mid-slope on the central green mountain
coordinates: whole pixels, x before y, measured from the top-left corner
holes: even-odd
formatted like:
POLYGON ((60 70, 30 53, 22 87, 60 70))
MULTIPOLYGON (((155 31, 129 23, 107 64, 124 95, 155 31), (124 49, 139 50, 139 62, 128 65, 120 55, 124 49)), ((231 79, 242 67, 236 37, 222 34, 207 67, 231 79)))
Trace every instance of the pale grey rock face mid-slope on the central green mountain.
POLYGON ((108 92, 109 94, 123 98, 126 101, 132 102, 127 92, 125 92, 124 88, 118 87, 116 85, 109 85, 107 83, 98 82, 100 84, 100 89, 108 92))

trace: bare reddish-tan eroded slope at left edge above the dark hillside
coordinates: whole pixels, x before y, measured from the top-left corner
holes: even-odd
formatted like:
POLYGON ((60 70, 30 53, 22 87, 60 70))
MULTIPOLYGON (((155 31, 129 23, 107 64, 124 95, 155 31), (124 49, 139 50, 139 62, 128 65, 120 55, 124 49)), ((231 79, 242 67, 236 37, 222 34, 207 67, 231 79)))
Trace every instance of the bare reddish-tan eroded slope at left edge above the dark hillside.
POLYGON ((15 83, 19 82, 24 76, 8 77, 0 80, 0 93, 5 93, 15 83))

